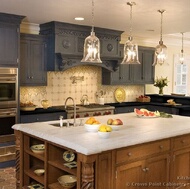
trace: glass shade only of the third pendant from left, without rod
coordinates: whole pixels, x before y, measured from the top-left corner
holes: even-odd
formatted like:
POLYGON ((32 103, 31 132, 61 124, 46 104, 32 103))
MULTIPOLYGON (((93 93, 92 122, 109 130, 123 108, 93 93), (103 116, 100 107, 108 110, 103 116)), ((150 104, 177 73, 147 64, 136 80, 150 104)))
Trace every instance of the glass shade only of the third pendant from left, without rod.
POLYGON ((167 58, 167 47, 163 44, 163 41, 159 42, 159 45, 155 49, 155 57, 153 66, 156 64, 163 65, 167 58))

